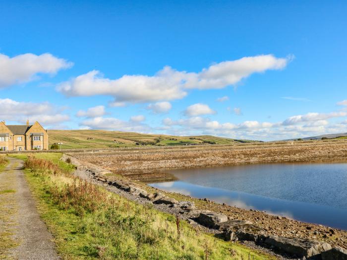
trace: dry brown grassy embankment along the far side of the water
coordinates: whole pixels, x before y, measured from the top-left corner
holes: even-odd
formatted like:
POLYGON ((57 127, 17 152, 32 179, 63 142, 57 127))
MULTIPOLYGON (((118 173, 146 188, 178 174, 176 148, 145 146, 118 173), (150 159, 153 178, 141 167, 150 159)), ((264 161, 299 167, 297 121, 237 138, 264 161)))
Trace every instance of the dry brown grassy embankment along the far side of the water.
POLYGON ((308 141, 237 146, 148 149, 72 155, 116 173, 134 174, 160 169, 246 163, 347 160, 347 142, 308 141))

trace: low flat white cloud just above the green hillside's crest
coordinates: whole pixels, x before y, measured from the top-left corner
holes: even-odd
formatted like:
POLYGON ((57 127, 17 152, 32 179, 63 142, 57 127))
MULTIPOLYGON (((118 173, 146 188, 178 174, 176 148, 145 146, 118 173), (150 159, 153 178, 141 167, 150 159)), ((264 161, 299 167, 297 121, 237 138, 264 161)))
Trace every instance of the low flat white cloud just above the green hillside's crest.
POLYGON ((103 129, 124 132, 149 132, 151 128, 139 121, 123 121, 115 117, 94 117, 86 119, 80 123, 81 127, 88 127, 89 129, 103 129))

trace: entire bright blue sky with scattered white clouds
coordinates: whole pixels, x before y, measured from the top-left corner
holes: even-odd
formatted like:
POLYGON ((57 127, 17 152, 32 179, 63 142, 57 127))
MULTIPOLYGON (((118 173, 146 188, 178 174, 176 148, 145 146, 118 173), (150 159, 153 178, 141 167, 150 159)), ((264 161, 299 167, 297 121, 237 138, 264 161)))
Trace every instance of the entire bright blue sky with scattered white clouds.
POLYGON ((0 0, 0 120, 283 140, 347 132, 347 1, 0 0))

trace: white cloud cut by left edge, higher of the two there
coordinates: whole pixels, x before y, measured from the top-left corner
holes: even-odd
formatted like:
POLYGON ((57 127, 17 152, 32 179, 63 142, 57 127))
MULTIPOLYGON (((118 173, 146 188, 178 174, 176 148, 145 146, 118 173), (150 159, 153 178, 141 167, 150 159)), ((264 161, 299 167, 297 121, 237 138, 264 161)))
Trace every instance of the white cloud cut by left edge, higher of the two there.
POLYGON ((0 53, 0 88, 34 80, 38 74, 55 74, 73 64, 50 53, 26 53, 10 58, 0 53))

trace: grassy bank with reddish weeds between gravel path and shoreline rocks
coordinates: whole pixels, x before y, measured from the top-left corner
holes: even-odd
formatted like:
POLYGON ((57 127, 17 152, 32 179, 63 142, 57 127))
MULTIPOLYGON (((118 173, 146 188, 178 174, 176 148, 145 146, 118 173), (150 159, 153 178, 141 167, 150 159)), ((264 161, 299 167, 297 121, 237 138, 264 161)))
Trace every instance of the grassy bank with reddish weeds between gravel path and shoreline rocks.
POLYGON ((269 259, 74 178, 58 156, 30 157, 25 167, 63 259, 269 259))

